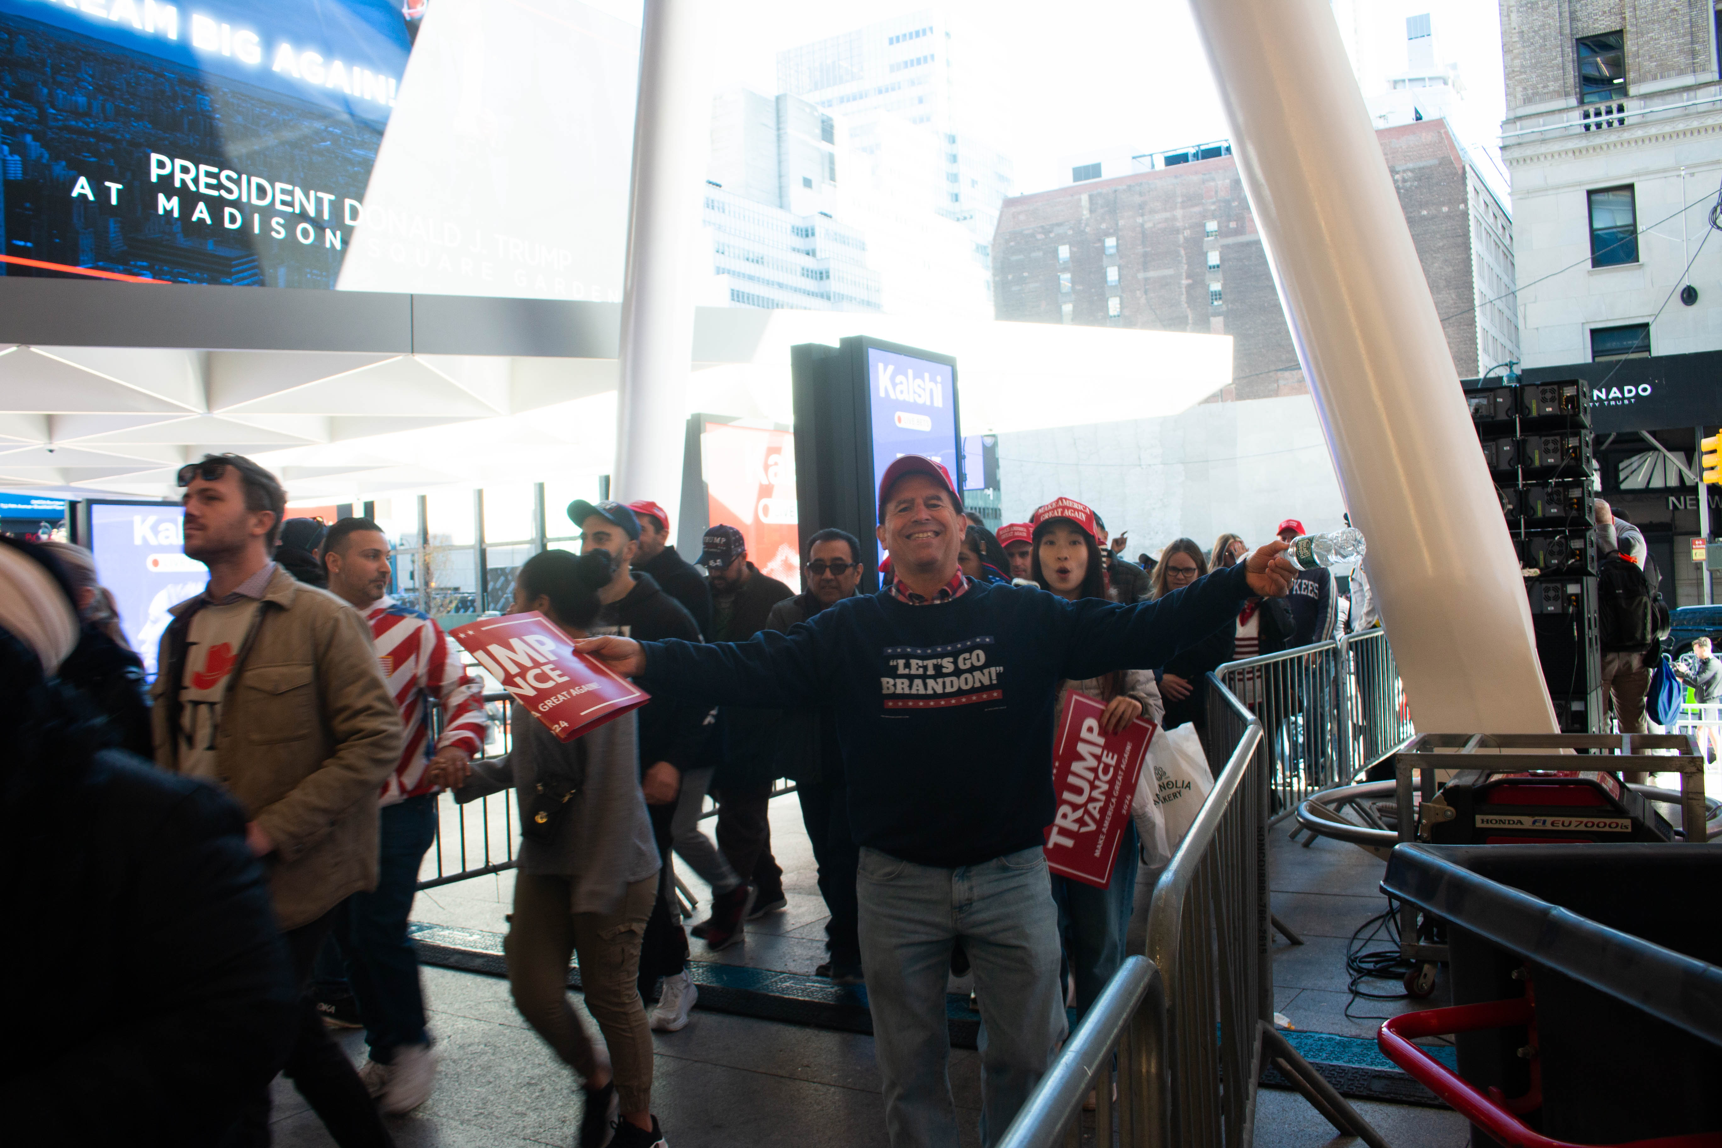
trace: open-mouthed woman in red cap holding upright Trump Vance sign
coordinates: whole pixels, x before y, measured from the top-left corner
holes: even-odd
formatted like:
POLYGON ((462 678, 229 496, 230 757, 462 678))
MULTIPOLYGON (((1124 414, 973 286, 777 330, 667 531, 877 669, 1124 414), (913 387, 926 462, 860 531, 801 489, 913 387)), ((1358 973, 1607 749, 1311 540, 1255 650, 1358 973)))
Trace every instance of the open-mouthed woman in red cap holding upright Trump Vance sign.
MULTIPOLYGON (((1056 499, 1035 511, 1030 571, 1040 589, 1071 602, 1083 597, 1112 597, 1100 568, 1093 511, 1075 499, 1056 499)), ((1149 670, 1114 670, 1087 682, 1064 682, 1064 692, 1080 690, 1102 702, 1100 725, 1116 733, 1137 718, 1161 719, 1161 692, 1149 670)), ((1050 762, 1049 762, 1050 768, 1050 762)), ((1069 878, 1052 878, 1052 898, 1059 904, 1064 954, 1076 978, 1076 1014, 1088 1012, 1100 990, 1124 962, 1124 931, 1130 924, 1137 892, 1137 828, 1126 819, 1124 840, 1112 862, 1106 888, 1069 878)))

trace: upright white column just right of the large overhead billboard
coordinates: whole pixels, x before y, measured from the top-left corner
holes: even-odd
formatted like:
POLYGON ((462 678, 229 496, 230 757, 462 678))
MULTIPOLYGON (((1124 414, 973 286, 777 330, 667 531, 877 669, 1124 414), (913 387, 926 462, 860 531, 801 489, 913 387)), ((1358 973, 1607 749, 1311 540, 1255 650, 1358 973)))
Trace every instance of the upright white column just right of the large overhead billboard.
POLYGON ((689 250, 711 150, 703 65, 706 0, 646 0, 634 115, 629 253, 622 284, 616 461, 611 497, 682 501, 687 380, 694 355, 689 250))

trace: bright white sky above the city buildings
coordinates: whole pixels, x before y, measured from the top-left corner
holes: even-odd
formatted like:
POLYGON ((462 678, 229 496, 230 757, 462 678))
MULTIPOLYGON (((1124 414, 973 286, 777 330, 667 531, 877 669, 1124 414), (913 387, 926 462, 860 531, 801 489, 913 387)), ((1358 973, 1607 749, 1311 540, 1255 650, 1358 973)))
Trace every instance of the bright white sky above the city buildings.
MULTIPOLYGON (((1085 150, 1099 158, 1124 148, 1164 151, 1226 136, 1186 0, 1090 0, 1071 7, 1026 0, 709 2, 713 88, 747 86, 768 95, 777 91, 782 48, 907 12, 951 12, 959 31, 973 38, 966 53, 990 72, 999 102, 992 127, 1016 162, 1018 191, 1066 182, 1069 157, 1085 150)), ((1357 2, 1374 5, 1383 24, 1393 28, 1403 28, 1403 15, 1431 12, 1438 62, 1460 64, 1467 102, 1476 107, 1472 122, 1498 131, 1503 96, 1496 0, 1357 2)), ((639 0, 594 5, 639 21, 639 0)))

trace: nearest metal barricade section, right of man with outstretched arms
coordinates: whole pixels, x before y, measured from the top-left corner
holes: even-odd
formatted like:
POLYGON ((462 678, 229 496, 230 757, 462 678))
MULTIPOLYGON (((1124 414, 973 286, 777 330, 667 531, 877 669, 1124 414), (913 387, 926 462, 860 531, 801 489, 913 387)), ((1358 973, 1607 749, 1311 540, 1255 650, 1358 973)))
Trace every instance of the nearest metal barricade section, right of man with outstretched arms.
POLYGON ((1147 957, 1128 959, 1112 978, 1000 1148, 1076 1148, 1090 1089, 1097 1148, 1248 1148, 1255 1086, 1267 1064, 1341 1134, 1384 1148, 1381 1136, 1274 1031, 1267 936, 1271 766, 1261 719, 1216 675, 1209 675, 1207 690, 1211 754, 1228 757, 1154 886, 1147 957))

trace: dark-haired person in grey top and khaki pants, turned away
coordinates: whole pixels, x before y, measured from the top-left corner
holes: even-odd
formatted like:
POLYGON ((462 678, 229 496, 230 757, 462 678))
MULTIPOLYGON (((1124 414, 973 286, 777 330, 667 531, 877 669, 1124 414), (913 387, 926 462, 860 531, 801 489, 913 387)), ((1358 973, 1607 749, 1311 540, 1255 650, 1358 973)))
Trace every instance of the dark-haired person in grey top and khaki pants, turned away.
MULTIPOLYGON (((587 637, 610 554, 544 551, 520 566, 510 613, 536 609, 570 639, 587 637)), ((523 826, 515 910, 503 955, 515 1007, 585 1091, 579 1145, 661 1148, 651 1114, 653 1041, 639 993, 641 938, 658 900, 658 845, 639 783, 634 714, 561 742, 520 702, 513 749, 472 762, 460 802, 513 788, 523 826), (594 1043, 568 1003, 579 955, 594 1043)))

